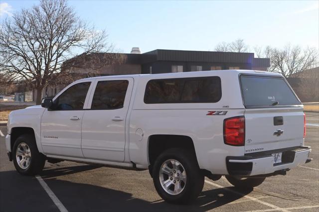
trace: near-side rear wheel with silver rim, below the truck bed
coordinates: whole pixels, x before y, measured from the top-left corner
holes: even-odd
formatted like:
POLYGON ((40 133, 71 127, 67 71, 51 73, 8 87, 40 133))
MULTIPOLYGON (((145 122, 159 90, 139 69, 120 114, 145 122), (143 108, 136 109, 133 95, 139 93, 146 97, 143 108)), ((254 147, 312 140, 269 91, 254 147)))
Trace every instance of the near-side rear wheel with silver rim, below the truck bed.
POLYGON ((198 197, 204 186, 204 176, 196 157, 178 148, 160 154, 152 176, 160 197, 169 203, 189 204, 198 197))

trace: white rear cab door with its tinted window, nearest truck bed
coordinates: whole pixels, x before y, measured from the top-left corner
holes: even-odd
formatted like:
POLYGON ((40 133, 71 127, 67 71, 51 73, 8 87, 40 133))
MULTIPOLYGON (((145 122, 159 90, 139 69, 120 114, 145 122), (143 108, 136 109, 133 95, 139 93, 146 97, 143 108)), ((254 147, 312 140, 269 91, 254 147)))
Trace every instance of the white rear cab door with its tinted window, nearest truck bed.
POLYGON ((133 78, 97 80, 82 120, 82 151, 87 159, 123 162, 126 117, 133 78))

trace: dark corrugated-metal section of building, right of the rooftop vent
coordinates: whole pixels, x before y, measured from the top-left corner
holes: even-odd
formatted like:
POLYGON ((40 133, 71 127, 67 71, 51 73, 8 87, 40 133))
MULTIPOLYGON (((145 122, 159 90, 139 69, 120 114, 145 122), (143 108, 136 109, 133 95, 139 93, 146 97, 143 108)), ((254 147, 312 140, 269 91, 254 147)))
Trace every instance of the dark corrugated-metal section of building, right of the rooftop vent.
POLYGON ((157 49, 141 54, 142 74, 227 69, 266 71, 269 59, 254 58, 254 53, 181 51, 157 49))

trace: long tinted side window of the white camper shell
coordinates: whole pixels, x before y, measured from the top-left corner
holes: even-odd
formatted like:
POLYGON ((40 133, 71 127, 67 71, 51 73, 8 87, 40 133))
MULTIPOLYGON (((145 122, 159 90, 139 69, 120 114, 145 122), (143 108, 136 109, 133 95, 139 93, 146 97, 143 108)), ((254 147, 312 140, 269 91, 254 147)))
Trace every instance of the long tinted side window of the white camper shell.
POLYGON ((150 80, 145 104, 217 103, 221 99, 219 77, 192 77, 150 80))

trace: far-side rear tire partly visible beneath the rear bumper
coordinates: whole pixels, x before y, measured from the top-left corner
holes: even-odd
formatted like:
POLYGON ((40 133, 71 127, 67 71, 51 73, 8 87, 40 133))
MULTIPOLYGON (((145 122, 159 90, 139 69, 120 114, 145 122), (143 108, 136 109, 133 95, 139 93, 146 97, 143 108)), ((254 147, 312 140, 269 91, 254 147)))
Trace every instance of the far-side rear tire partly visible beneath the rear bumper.
POLYGON ((262 184, 266 177, 235 177, 235 176, 230 176, 226 175, 226 179, 228 180, 229 183, 231 183, 233 186, 240 188, 240 189, 251 189, 256 186, 259 186, 262 184))

